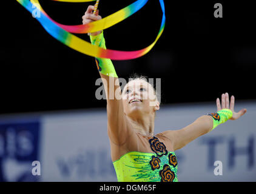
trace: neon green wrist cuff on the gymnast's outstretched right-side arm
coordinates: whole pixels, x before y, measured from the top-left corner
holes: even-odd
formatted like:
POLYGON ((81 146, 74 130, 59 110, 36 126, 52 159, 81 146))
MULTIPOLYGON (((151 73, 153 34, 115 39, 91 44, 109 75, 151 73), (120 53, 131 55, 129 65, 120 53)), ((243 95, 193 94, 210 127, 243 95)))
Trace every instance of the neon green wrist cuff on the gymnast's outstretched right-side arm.
POLYGON ((222 109, 222 110, 219 110, 217 113, 209 113, 207 115, 212 116, 212 119, 214 121, 214 127, 212 127, 212 130, 213 130, 218 125, 230 119, 233 113, 230 109, 222 109))

